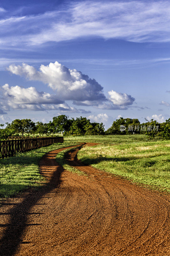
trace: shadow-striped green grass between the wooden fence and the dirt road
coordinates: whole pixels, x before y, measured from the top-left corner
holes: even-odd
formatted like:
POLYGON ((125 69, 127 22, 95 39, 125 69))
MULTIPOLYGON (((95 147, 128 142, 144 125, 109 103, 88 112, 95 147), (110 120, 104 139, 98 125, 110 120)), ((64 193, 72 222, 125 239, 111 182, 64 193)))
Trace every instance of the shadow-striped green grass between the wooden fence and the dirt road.
POLYGON ((51 150, 72 145, 76 143, 67 140, 64 143, 56 143, 26 153, 18 153, 14 157, 0 159, 0 197, 16 195, 28 187, 41 187, 45 181, 38 167, 41 157, 51 150))

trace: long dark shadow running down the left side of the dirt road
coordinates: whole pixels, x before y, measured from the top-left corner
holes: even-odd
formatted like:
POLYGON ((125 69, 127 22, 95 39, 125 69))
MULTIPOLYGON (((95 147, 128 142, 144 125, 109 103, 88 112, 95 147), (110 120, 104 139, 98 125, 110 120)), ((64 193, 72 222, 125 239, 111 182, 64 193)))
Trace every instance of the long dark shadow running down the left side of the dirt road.
MULTIPOLYGON (((49 153, 48 153, 49 154, 49 153)), ((50 153, 52 155, 52 153, 50 153)), ((54 155, 54 154, 53 154, 54 155)), ((51 167, 54 168, 56 166, 56 170, 53 172, 52 177, 49 182, 45 185, 42 185, 38 191, 30 191, 21 203, 13 204, 13 208, 8 212, 10 215, 9 224, 3 224, 6 227, 4 234, 0 240, 0 255, 1 256, 12 256, 18 249, 19 244, 21 244, 22 239, 21 236, 24 234, 26 227, 28 225, 41 225, 40 223, 29 224, 27 223, 28 216, 31 214, 30 209, 38 204, 38 201, 46 194, 51 192, 54 188, 60 185, 61 183, 61 173, 63 172, 63 168, 61 166, 57 166, 55 164, 55 159, 51 164, 51 167)), ((43 163, 43 166, 47 166, 47 169, 44 171, 48 171, 50 167, 50 162, 43 163)), ((9 203, 4 203, 4 205, 9 203)), ((34 214, 39 214, 38 212, 34 212, 34 214)))

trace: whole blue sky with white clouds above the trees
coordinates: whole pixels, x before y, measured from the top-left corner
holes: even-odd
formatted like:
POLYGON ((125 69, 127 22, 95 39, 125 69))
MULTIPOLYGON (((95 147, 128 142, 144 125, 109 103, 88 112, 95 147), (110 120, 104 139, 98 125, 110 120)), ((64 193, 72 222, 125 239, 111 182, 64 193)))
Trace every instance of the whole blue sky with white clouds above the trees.
POLYGON ((170 1, 0 5, 0 123, 170 118, 170 1))

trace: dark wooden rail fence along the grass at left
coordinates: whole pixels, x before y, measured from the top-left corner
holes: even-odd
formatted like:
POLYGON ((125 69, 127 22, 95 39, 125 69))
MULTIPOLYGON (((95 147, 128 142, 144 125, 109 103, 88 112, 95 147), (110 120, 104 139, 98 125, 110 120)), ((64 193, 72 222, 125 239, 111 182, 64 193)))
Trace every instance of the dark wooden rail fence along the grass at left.
POLYGON ((14 156, 17 152, 27 152, 31 149, 49 146, 63 142, 63 137, 39 137, 30 139, 14 139, 0 141, 0 158, 14 156))

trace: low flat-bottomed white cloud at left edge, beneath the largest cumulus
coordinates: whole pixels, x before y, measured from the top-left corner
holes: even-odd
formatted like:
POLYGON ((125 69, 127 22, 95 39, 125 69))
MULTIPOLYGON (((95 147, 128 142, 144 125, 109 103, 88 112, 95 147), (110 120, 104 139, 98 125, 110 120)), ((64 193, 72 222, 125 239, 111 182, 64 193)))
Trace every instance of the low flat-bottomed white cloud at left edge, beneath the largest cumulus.
POLYGON ((35 87, 24 88, 21 86, 9 86, 4 84, 1 88, 0 114, 6 114, 4 110, 28 109, 33 111, 61 110, 76 113, 91 113, 84 109, 70 107, 64 100, 59 100, 55 94, 38 92, 35 87))

